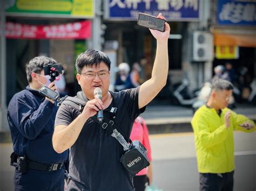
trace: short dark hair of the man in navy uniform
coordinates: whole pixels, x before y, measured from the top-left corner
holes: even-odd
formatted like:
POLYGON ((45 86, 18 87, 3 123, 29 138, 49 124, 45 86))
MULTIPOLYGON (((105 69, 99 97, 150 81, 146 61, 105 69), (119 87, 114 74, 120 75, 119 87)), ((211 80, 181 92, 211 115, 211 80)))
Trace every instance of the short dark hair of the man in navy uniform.
POLYGON ((44 65, 48 65, 48 63, 56 64, 57 62, 53 58, 49 58, 46 56, 37 56, 29 61, 26 64, 26 79, 28 82, 32 82, 31 74, 40 73, 44 69, 44 65))

